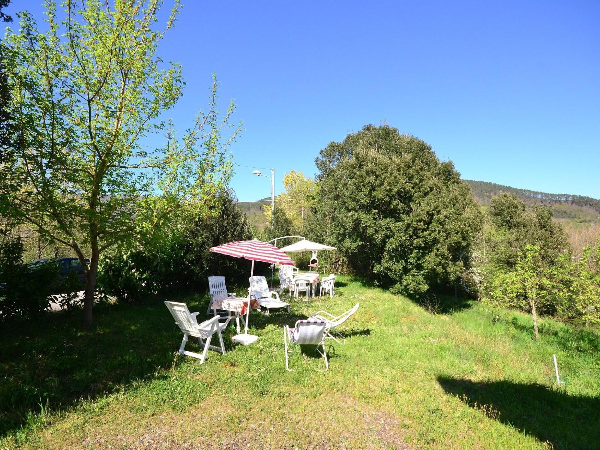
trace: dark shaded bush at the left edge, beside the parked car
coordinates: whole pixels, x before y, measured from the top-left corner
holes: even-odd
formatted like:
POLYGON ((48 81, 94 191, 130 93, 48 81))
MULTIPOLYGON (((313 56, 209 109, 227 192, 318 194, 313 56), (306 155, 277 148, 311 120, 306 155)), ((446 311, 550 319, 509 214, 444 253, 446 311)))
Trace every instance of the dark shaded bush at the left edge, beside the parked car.
POLYGON ((59 266, 53 261, 23 264, 20 238, 0 244, 0 320, 38 316, 50 304, 56 290, 59 266))

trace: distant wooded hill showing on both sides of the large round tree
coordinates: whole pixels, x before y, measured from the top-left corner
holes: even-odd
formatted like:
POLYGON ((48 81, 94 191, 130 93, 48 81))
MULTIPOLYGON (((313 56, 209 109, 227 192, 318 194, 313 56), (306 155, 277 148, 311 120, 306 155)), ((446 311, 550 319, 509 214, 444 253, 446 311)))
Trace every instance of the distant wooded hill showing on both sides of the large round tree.
MULTIPOLYGON (((479 205, 487 206, 493 196, 502 192, 514 194, 523 200, 527 206, 545 205, 554 211, 557 219, 573 220, 580 223, 600 223, 600 200, 592 197, 577 196, 573 194, 551 194, 548 192, 530 191, 487 181, 465 180, 471 187, 473 198, 479 205)), ((263 215, 262 202, 239 202, 239 206, 245 211, 248 220, 257 230, 265 229, 266 220, 263 215)))

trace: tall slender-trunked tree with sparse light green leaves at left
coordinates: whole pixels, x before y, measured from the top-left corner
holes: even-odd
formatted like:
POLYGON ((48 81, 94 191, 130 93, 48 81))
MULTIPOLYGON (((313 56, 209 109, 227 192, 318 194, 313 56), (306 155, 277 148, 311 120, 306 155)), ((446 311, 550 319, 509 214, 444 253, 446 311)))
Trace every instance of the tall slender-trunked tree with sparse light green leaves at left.
POLYGON ((11 112, 25 145, 0 166, 0 214, 76 252, 86 275, 85 326, 100 255, 212 202, 230 172, 226 148, 238 130, 221 138, 233 105, 220 115, 216 82, 208 112, 181 137, 161 120, 184 85, 181 67, 163 67, 157 56, 180 8, 175 1, 158 29, 161 4, 72 0, 60 19, 49 1, 47 32, 22 13, 19 33, 6 38, 11 112), (157 133, 165 134, 160 148, 140 142, 157 133))

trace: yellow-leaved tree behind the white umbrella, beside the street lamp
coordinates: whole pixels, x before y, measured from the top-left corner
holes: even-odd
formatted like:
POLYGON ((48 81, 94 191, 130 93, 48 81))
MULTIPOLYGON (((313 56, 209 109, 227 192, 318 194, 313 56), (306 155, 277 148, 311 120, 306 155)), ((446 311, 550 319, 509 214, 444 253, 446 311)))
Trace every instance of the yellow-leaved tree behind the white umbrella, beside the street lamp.
MULTIPOLYGON (((292 169, 283 176, 285 192, 275 197, 277 205, 286 212, 293 227, 304 233, 304 218, 314 205, 316 199, 316 184, 312 178, 306 178, 304 173, 292 169)), ((271 205, 263 205, 263 211, 268 221, 271 221, 271 205)))

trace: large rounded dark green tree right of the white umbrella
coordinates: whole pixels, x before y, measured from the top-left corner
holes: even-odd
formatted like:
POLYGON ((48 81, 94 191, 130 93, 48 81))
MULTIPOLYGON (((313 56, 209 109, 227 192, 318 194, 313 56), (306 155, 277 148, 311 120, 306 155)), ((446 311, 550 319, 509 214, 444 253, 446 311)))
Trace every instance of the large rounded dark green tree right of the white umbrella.
POLYGON ((316 164, 310 229, 350 269, 413 295, 457 283, 481 214, 454 164, 387 125, 329 143, 316 164))

